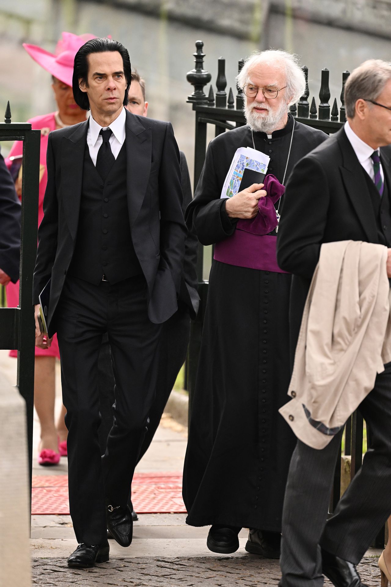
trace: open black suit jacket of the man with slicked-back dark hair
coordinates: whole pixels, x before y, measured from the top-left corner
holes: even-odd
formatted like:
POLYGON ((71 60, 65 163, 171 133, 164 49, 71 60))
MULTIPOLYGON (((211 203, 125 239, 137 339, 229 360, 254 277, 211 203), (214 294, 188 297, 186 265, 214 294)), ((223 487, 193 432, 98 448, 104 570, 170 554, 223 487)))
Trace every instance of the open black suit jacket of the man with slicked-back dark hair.
MULTIPOLYGON (((79 221, 89 121, 49 134, 44 217, 38 231, 33 303, 50 276, 48 331, 72 259, 79 221)), ((170 123, 126 111, 127 195, 132 241, 148 286, 148 316, 165 322, 178 308, 186 227, 179 150, 170 123)))

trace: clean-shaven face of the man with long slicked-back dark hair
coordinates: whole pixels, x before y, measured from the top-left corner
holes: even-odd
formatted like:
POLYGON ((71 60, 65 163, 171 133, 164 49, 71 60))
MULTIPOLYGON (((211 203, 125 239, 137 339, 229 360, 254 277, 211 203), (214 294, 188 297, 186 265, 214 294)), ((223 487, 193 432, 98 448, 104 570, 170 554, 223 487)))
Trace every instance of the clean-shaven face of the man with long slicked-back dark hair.
POLYGON ((118 51, 90 53, 87 60, 88 87, 79 87, 89 97, 91 114, 112 116, 123 107, 127 87, 121 54, 118 51))

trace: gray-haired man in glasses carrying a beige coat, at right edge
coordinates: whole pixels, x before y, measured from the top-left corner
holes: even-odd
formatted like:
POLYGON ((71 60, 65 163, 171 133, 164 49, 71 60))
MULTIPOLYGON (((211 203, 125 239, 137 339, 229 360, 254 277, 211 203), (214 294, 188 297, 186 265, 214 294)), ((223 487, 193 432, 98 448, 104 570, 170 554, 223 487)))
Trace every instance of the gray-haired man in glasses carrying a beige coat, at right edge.
MULTIPOLYGON (((391 277, 391 63, 370 59, 356 68, 345 85, 345 106, 344 128, 297 164, 284 196, 277 259, 293 273, 294 340, 322 243, 385 245, 391 277)), ((337 587, 362 585, 355 565, 391 512, 391 363, 359 411, 370 428, 370 450, 327 523, 343 430, 321 430, 335 434, 321 450, 298 440, 285 492, 283 587, 321 587, 323 575, 337 587)))

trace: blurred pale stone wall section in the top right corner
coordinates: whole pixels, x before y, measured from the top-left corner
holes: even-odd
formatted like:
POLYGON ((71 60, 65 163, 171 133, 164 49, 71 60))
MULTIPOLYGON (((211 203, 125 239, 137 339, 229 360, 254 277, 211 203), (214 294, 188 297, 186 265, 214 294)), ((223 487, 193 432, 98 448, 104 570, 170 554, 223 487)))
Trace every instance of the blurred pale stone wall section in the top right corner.
POLYGON ((391 0, 271 0, 270 9, 391 38, 391 0))

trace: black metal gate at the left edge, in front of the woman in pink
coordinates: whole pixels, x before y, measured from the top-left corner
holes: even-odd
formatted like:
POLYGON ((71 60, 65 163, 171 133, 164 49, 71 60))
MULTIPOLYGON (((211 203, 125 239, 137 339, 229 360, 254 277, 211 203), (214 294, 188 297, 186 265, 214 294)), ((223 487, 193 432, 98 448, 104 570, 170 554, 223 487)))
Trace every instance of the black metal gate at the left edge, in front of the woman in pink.
POLYGON ((35 323, 32 305, 37 251, 40 131, 11 122, 8 106, 0 124, 0 140, 23 141, 21 266, 18 308, 0 308, 0 349, 18 350, 16 385, 26 402, 30 481, 32 478, 35 323))

